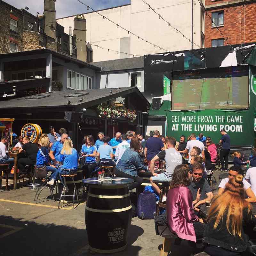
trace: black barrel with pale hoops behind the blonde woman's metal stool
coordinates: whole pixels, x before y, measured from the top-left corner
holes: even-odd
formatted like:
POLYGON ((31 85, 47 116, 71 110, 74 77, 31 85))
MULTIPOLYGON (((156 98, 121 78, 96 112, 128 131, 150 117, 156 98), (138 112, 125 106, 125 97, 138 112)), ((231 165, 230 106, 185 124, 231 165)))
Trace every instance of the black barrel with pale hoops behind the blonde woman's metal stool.
MULTIPOLYGON (((84 194, 84 183, 82 182, 82 180, 84 179, 84 173, 83 173, 84 169, 83 169, 83 165, 79 165, 77 167, 77 172, 76 172, 76 176, 73 176, 75 184, 76 184, 76 189, 77 189, 77 195, 78 195, 78 202, 83 200, 83 194, 84 194)), ((64 182, 64 177, 62 177, 63 182, 64 182)), ((63 189, 63 184, 61 183, 61 181, 59 180, 59 191, 61 194, 61 191, 63 189)), ((74 184, 72 181, 71 177, 66 177, 66 184, 68 187, 69 192, 66 192, 66 195, 69 195, 70 193, 72 193, 73 195, 73 191, 74 191, 74 184)), ((63 200, 61 200, 62 202, 63 200)), ((65 197, 65 201, 67 202, 73 202, 73 198, 68 196, 65 197)), ((76 199, 76 194, 75 194, 75 202, 77 202, 76 199)))

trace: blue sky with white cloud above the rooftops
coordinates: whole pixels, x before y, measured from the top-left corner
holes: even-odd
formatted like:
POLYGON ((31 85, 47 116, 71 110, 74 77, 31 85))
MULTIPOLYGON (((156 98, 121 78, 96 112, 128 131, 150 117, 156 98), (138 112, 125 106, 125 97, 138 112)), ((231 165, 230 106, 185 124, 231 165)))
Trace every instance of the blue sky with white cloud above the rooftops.
MULTIPOLYGON (((84 4, 92 6, 94 10, 101 10, 105 8, 111 8, 118 5, 130 4, 130 0, 80 0, 84 4)), ((28 6, 28 12, 36 16, 36 12, 39 12, 39 16, 44 12, 44 0, 4 0, 4 2, 11 4, 12 6, 20 9, 28 6)), ((77 0, 56 0, 56 19, 66 16, 72 16, 75 14, 92 12, 91 9, 87 11, 87 7, 79 3, 77 0)))

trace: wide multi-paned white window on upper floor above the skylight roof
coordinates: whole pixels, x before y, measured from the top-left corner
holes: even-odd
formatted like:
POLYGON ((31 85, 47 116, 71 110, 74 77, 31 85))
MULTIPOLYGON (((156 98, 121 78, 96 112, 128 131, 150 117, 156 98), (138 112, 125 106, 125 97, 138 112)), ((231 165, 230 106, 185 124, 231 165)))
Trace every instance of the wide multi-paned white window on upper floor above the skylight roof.
POLYGON ((92 89, 92 78, 68 70, 67 87, 75 90, 92 89))

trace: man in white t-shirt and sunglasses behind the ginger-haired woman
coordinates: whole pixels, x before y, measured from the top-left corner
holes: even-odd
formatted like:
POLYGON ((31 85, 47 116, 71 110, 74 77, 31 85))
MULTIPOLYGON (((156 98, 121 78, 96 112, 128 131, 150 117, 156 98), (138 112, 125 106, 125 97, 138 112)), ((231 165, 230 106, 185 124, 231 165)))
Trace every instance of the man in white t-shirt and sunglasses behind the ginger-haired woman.
MULTIPOLYGON (((240 166, 230 167, 229 172, 228 172, 228 178, 225 178, 225 179, 220 181, 218 195, 220 195, 224 192, 226 184, 228 183, 228 180, 234 179, 236 177, 236 175, 242 174, 242 172, 243 171, 240 168, 240 166)), ((247 202, 250 202, 250 203, 255 203, 256 202, 256 196, 254 195, 254 193, 251 189, 251 184, 248 181, 246 181, 245 179, 243 179, 243 184, 244 184, 245 193, 248 197, 245 200, 247 202)))

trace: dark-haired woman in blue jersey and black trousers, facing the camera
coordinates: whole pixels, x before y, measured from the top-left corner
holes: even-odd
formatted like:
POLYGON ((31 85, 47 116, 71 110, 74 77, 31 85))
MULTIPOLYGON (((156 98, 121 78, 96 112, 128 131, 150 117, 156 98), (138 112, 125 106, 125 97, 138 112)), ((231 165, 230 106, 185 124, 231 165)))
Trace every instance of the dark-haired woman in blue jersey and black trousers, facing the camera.
POLYGON ((88 135, 86 138, 86 143, 82 146, 81 149, 82 157, 85 157, 84 162, 84 175, 85 178, 90 178, 92 171, 96 167, 96 154, 97 148, 94 146, 94 140, 92 135, 88 135))

